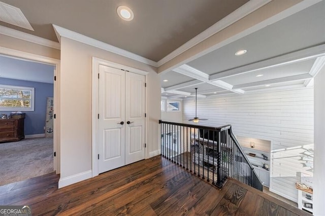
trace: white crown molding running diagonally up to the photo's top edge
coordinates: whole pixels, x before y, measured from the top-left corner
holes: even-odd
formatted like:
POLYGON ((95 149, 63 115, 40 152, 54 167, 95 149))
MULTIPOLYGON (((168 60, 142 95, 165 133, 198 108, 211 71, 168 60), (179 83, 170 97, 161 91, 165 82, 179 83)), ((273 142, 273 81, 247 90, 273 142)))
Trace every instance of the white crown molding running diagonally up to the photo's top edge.
POLYGON ((236 21, 242 19, 243 17, 247 16, 248 14, 252 13, 253 11, 261 8, 262 6, 268 4, 272 0, 259 0, 259 1, 249 1, 245 5, 241 6, 228 16, 224 17, 220 21, 213 24, 211 27, 206 29, 205 31, 198 34, 196 37, 192 38, 164 58, 160 59, 157 62, 157 66, 160 67, 161 65, 165 64, 166 62, 170 61, 171 59, 175 58, 176 56, 180 55, 181 53, 185 52, 186 50, 192 48, 193 46, 199 44, 200 42, 206 40, 207 38, 211 37, 213 34, 221 31, 222 29, 230 26, 231 24, 235 23, 236 21))

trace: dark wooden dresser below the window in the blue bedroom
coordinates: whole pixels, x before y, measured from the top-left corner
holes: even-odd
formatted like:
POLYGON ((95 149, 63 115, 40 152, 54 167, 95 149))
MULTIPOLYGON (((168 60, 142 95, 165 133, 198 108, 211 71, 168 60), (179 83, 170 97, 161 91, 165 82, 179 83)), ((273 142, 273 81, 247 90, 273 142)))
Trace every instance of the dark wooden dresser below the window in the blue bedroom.
POLYGON ((0 119, 0 142, 19 141, 24 136, 24 118, 0 119))

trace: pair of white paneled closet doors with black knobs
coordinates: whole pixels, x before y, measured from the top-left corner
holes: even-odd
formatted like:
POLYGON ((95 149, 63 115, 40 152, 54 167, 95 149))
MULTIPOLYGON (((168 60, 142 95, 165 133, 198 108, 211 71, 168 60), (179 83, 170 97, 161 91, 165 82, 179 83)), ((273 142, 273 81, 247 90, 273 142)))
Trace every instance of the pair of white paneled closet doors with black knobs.
POLYGON ((145 76, 100 65, 99 173, 145 157, 145 76))

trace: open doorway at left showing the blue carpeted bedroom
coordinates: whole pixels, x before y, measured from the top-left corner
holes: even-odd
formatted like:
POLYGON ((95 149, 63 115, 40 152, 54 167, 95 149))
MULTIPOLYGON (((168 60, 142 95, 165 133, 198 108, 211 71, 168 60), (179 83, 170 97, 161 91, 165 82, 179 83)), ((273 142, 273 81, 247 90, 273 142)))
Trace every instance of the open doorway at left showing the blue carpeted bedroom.
POLYGON ((53 81, 59 60, 2 48, 0 65, 0 186, 59 173, 53 81))

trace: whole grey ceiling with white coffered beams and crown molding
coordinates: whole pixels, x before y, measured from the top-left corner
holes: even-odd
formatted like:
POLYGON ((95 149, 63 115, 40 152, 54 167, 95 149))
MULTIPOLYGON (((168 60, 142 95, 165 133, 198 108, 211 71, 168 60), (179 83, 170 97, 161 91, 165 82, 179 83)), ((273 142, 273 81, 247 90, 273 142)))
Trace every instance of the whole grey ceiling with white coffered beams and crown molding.
POLYGON ((55 30, 77 32, 128 51, 122 55, 157 67, 168 98, 191 97, 194 88, 207 97, 312 87, 325 63, 324 0, 2 2, 35 31, 0 21, 0 33, 58 42, 55 30), (117 16, 120 5, 133 10, 132 21, 117 16), (247 53, 236 56, 241 49, 247 53))

